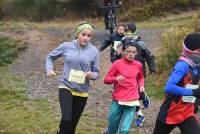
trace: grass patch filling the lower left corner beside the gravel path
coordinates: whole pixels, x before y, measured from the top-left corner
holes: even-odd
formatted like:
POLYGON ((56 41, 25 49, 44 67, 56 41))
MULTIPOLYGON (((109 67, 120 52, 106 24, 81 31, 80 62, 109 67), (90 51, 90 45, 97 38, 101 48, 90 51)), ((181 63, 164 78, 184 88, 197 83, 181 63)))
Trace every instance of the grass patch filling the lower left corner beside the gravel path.
POLYGON ((59 122, 58 110, 53 111, 47 100, 33 101, 25 95, 26 83, 0 68, 0 133, 53 134, 59 122))

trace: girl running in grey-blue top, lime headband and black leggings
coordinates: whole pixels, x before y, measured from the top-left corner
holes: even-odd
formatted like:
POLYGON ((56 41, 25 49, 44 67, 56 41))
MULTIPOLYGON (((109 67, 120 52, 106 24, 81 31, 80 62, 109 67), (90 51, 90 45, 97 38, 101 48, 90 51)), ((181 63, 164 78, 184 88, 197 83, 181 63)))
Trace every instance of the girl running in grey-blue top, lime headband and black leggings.
POLYGON ((77 39, 60 44, 46 57, 49 77, 56 75, 53 61, 64 57, 63 74, 59 80, 61 121, 57 134, 75 134, 87 102, 89 81, 99 78, 99 52, 90 43, 93 33, 91 24, 81 23, 76 28, 77 39))

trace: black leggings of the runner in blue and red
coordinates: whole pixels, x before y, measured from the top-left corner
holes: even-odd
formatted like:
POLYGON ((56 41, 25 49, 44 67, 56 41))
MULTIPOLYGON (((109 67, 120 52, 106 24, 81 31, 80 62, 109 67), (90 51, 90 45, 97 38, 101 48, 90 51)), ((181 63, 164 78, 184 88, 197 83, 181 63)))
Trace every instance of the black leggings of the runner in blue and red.
POLYGON ((200 134, 200 126, 194 116, 172 125, 157 120, 153 134, 169 134, 175 127, 178 127, 182 134, 200 134))

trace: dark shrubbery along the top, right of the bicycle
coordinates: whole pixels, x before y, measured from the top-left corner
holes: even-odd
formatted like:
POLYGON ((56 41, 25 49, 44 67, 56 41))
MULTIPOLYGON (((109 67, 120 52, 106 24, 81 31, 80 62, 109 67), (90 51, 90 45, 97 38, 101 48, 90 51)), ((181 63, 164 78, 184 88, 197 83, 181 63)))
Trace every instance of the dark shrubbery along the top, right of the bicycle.
POLYGON ((200 7, 198 0, 124 0, 124 5, 120 19, 124 20, 145 20, 151 16, 162 16, 165 12, 175 10, 196 9, 200 7), (127 10, 128 9, 128 10, 127 10))

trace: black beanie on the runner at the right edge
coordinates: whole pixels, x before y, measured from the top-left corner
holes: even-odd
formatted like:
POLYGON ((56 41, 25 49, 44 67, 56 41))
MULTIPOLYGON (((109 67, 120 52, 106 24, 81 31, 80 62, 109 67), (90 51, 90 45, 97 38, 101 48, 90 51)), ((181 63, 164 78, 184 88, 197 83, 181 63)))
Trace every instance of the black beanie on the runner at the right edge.
POLYGON ((188 34, 184 39, 184 44, 186 48, 192 51, 200 49, 200 34, 199 33, 188 34))

